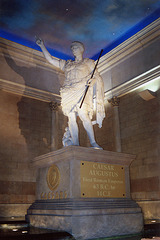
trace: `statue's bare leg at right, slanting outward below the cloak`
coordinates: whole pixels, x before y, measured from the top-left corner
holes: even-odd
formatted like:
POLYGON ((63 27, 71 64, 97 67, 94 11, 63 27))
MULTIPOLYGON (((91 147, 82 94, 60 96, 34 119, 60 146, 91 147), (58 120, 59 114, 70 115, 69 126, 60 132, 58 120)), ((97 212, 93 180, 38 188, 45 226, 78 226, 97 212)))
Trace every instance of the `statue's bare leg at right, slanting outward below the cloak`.
POLYGON ((93 126, 92 126, 92 122, 88 116, 88 113, 86 111, 84 111, 83 109, 79 109, 78 110, 78 115, 83 123, 83 126, 88 134, 91 146, 94 148, 98 148, 98 149, 102 149, 95 140, 94 137, 94 131, 93 131, 93 126))

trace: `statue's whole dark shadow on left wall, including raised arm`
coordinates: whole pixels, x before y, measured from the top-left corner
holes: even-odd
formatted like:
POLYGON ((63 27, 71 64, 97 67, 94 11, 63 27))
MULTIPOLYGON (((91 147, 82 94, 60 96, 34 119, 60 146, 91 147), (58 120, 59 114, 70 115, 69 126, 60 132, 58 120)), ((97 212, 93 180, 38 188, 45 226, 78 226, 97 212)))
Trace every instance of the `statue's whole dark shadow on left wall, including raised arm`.
MULTIPOLYGON (((34 87, 36 74, 37 77, 44 76, 42 69, 17 65, 8 52, 7 54, 5 52, 4 58, 8 66, 23 78, 24 93, 26 85, 29 86, 33 83, 34 87)), ((19 113, 19 129, 27 144, 28 158, 32 159, 49 152, 51 145, 51 110, 49 103, 22 96, 17 103, 17 111, 19 113)))

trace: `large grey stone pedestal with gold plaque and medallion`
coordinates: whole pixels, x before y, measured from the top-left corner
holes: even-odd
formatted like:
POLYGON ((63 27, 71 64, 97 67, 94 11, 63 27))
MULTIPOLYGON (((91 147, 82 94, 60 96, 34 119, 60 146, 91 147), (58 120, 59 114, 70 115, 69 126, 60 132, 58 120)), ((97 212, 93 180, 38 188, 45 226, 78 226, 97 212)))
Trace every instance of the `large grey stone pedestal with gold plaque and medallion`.
POLYGON ((140 233, 143 216, 130 199, 129 165, 135 156, 69 146, 36 157, 34 227, 66 231, 76 239, 140 233))

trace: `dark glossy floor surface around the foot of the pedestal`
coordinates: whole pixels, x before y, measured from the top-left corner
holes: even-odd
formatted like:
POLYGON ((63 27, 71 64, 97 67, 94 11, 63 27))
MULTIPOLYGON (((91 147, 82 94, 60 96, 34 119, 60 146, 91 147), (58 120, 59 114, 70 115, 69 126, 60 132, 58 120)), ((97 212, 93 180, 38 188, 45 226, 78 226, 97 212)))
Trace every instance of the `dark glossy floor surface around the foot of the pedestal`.
MULTIPOLYGON (((142 238, 160 237, 160 221, 148 222, 144 225, 144 232, 139 235, 115 236, 99 238, 97 240, 141 240, 142 238)), ((57 232, 47 229, 29 227, 21 218, 0 218, 0 239, 3 240, 76 240, 66 232, 57 232)), ((153 238, 154 239, 154 238, 153 238)))

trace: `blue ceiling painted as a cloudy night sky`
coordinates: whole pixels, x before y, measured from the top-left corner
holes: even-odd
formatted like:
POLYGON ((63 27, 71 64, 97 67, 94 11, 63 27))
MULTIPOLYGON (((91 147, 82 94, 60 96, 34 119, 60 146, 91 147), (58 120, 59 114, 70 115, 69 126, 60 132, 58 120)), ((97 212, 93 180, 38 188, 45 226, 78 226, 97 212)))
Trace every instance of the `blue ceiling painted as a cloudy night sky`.
POLYGON ((0 37, 70 58, 72 41, 96 59, 160 17, 160 0, 0 0, 0 37))

